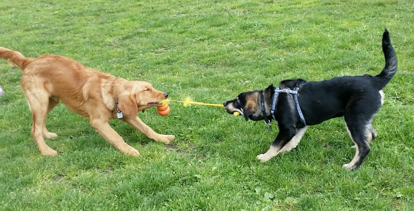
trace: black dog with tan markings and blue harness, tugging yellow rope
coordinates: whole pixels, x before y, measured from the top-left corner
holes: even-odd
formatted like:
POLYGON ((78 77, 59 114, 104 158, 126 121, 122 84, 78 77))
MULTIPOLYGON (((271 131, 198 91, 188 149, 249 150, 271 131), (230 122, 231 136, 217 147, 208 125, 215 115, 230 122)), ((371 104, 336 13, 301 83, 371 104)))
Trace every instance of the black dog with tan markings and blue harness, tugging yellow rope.
POLYGON ((284 80, 279 88, 270 85, 264 91, 241 93, 236 99, 224 102, 224 108, 230 114, 239 112, 246 121, 265 120, 270 129, 270 120, 277 121, 279 134, 270 149, 257 156, 262 162, 294 149, 308 125, 344 116, 356 154, 342 167, 355 169, 368 155, 369 144, 377 136, 372 120, 384 102, 382 89, 397 71, 397 58, 387 29, 382 42, 385 67, 376 76, 342 76, 319 82, 284 80))

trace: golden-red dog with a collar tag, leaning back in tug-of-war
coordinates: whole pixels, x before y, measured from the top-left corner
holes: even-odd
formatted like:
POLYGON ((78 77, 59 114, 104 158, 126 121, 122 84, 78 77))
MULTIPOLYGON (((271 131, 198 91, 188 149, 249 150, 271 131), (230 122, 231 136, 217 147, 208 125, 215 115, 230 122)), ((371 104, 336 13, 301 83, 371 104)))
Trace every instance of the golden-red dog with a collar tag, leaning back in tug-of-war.
POLYGON ((130 82, 111 74, 99 72, 60 55, 46 54, 39 58, 26 58, 21 53, 0 47, 0 58, 9 65, 22 69, 21 85, 32 113, 31 134, 42 155, 58 153, 43 140, 56 137, 46 129, 48 113, 62 101, 69 110, 89 118, 94 129, 116 149, 131 156, 140 153, 125 143, 108 124, 117 119, 116 100, 124 113, 120 118, 150 139, 169 144, 175 137, 154 132, 137 117, 139 111, 165 99, 164 92, 154 89, 148 82, 130 82), (154 104, 153 104, 154 103, 154 104))

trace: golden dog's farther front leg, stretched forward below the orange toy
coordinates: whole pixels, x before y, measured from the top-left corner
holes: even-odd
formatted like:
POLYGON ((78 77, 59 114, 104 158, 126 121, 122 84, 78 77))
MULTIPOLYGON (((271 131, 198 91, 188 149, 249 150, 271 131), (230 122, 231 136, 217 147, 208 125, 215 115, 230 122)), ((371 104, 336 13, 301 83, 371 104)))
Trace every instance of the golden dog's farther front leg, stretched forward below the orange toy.
POLYGON ((121 120, 127 122, 129 125, 137 129, 139 132, 142 132, 144 135, 146 135, 148 138, 154 141, 161 141, 164 142, 164 144, 170 144, 170 142, 175 138, 175 136, 173 135, 163 135, 154 132, 154 130, 151 129, 151 127, 145 125, 145 123, 142 122, 142 120, 138 117, 134 119, 124 117, 121 120))

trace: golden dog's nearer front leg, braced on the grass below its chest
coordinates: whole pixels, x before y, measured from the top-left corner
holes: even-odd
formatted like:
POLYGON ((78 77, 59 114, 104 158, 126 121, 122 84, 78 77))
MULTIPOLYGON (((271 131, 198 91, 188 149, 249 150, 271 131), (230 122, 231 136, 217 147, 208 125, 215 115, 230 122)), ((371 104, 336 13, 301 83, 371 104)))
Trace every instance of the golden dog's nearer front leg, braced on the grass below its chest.
POLYGON ((125 143, 124 139, 108 124, 108 122, 100 119, 91 119, 90 124, 96 132, 101 134, 109 143, 112 144, 119 151, 130 155, 130 156, 140 156, 140 152, 134 149, 132 146, 129 146, 125 143))

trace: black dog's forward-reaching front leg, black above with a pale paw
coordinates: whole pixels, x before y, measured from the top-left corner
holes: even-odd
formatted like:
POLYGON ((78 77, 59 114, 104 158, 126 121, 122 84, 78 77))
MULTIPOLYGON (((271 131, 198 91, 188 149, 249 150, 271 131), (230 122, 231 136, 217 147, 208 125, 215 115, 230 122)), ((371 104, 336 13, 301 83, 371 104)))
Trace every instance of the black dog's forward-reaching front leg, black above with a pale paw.
POLYGON ((277 134, 276 139, 274 139, 273 143, 270 145, 269 150, 266 153, 260 154, 257 158, 261 162, 266 162, 277 156, 281 149, 296 135, 296 129, 294 128, 286 128, 282 129, 279 127, 279 133, 277 134))

